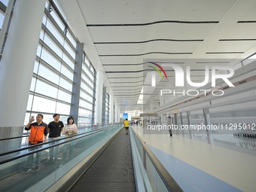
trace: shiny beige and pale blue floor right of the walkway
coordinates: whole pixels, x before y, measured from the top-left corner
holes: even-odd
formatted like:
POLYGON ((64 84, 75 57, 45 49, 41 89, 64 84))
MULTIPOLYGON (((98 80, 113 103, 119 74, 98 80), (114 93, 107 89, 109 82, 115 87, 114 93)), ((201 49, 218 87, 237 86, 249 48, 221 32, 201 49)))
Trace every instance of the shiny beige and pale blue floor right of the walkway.
POLYGON ((141 126, 134 126, 133 130, 166 169, 177 175, 184 191, 255 191, 256 139, 221 134, 174 134, 169 137, 167 131, 143 134, 141 126), (172 161, 179 162, 175 170, 172 161), (200 180, 188 181, 189 175, 191 179, 200 180))

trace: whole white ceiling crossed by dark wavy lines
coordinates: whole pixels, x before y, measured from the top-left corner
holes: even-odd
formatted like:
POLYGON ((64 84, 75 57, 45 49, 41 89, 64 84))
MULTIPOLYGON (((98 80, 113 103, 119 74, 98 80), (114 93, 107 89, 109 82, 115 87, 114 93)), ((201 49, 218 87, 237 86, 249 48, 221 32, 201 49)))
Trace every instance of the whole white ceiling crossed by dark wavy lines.
MULTIPOLYGON (((137 102, 150 61, 176 59, 184 66, 195 59, 192 80, 202 81, 206 64, 234 66, 256 52, 254 0, 56 2, 90 61, 105 72, 120 111, 142 108, 137 102)), ((160 89, 173 88, 174 72, 167 76, 151 90, 148 104, 159 101, 160 89)))

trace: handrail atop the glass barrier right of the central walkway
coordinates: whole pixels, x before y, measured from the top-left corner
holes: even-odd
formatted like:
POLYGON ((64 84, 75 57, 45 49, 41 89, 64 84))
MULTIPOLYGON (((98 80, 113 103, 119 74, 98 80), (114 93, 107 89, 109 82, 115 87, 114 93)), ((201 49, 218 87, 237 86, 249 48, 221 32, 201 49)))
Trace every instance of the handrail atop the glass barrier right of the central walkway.
POLYGON ((160 163, 160 161, 153 154, 153 152, 148 148, 148 146, 145 144, 146 142, 144 142, 134 130, 133 133, 136 135, 145 153, 148 154, 148 158, 151 160, 151 163, 154 165, 154 168, 157 170, 158 174, 160 175, 160 178, 162 178, 163 183, 166 185, 167 189, 169 191, 182 192, 183 190, 181 189, 181 187, 178 185, 175 179, 172 178, 172 176, 162 165, 162 163, 160 163))

